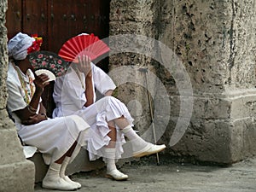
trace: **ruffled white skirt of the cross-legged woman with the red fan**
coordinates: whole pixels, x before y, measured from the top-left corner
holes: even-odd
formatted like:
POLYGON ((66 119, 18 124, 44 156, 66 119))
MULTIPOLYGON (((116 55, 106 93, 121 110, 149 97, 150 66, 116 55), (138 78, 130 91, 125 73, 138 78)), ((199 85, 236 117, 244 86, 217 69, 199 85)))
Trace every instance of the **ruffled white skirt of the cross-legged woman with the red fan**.
MULTIPOLYGON (((67 114, 68 110, 65 110, 65 107, 62 106, 62 110, 62 113, 67 114)), ((103 157, 104 160, 103 147, 110 142, 108 121, 123 116, 133 126, 133 119, 125 104, 113 96, 104 96, 89 107, 83 108, 74 114, 82 117, 90 125, 90 139, 87 143, 90 160, 96 160, 100 157, 103 157)), ((116 127, 116 130, 115 158, 118 160, 121 158, 121 154, 124 153, 122 145, 125 143, 125 137, 119 127, 116 127)))

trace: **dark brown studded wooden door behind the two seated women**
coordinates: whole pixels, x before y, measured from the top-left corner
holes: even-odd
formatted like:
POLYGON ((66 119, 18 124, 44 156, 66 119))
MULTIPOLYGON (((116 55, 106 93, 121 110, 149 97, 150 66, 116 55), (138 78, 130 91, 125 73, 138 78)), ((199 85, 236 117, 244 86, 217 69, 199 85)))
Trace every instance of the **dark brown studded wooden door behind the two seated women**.
MULTIPOLYGON (((37 33, 44 39, 41 49, 58 53, 67 39, 81 32, 107 38, 110 0, 9 0, 6 15, 8 38, 17 32, 37 33)), ((108 58, 97 66, 108 71, 108 58)), ((55 104, 53 83, 44 91, 44 106, 51 116, 55 104)))

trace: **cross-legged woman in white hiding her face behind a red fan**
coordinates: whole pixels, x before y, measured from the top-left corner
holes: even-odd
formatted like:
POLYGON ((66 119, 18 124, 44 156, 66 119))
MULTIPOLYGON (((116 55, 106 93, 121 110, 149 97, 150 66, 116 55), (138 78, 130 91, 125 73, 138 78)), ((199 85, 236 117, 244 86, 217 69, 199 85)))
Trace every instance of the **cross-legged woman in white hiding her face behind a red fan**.
POLYGON ((134 157, 158 153, 166 146, 147 143, 137 135, 125 104, 111 96, 115 88, 107 73, 90 62, 90 58, 81 55, 79 63, 73 63, 64 76, 55 80, 53 116, 78 114, 82 117, 90 125, 91 137, 87 146, 90 160, 102 156, 107 164, 107 176, 125 180, 128 176, 115 166, 115 161, 124 152, 124 136, 131 142, 134 157), (104 97, 96 101, 95 90, 104 97))

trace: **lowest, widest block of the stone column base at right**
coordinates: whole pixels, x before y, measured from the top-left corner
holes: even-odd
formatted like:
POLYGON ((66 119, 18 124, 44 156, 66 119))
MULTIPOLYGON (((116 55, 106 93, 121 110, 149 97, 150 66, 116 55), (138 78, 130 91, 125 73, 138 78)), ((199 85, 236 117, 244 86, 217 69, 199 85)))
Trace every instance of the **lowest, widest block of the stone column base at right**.
MULTIPOLYGON (((175 127, 177 118, 172 118, 167 128, 175 127)), ((174 145, 171 154, 190 156, 202 162, 233 164, 256 154, 256 122, 248 119, 191 119, 181 140, 174 145)))

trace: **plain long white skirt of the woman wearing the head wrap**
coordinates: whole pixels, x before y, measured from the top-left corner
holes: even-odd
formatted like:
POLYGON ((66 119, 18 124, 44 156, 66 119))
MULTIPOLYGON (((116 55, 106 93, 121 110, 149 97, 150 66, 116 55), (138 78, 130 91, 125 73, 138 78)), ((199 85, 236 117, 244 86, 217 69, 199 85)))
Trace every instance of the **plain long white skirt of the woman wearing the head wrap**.
MULTIPOLYGON (((86 146, 90 126, 77 115, 47 119, 35 125, 20 125, 18 134, 26 145, 35 146, 43 154, 45 164, 59 160, 78 142, 75 151, 86 146)), ((72 160, 75 156, 72 156, 72 160)), ((72 161, 71 160, 71 161, 72 161)))

